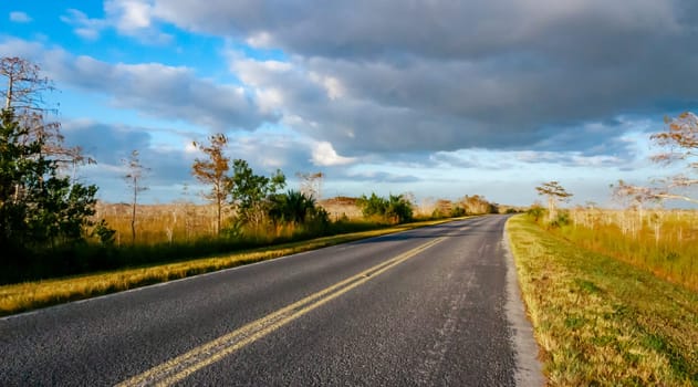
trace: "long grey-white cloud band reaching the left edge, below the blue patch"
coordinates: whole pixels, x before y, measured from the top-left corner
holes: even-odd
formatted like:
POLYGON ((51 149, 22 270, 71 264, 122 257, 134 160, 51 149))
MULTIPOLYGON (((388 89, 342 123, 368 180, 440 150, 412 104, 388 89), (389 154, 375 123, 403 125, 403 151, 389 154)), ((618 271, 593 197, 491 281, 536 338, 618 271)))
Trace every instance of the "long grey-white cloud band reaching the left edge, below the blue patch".
POLYGON ((253 130, 264 122, 278 119, 274 114, 260 111, 241 86, 198 77, 189 67, 112 64, 22 40, 0 42, 0 53, 30 57, 42 64, 55 82, 106 94, 115 107, 166 121, 181 119, 211 132, 253 130))

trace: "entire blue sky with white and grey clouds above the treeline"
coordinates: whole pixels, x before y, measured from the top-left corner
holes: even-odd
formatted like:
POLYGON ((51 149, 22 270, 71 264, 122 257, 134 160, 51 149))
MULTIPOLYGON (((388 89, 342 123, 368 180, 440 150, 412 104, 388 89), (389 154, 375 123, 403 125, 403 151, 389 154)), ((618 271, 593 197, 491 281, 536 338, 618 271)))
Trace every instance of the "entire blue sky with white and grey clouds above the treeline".
POLYGON ((100 198, 198 191, 192 140, 231 138, 259 174, 322 171, 323 196, 483 195, 559 180, 574 202, 653 164, 664 116, 696 108, 692 0, 3 1, 0 55, 38 63, 100 198))

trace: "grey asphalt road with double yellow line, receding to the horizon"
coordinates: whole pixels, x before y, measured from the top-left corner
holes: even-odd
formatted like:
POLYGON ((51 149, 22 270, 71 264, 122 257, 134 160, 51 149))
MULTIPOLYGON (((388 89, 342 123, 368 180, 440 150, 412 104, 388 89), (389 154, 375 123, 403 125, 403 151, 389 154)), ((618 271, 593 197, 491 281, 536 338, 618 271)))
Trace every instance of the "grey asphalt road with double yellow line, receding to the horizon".
POLYGON ((543 383, 506 217, 0 320, 0 386, 543 383))

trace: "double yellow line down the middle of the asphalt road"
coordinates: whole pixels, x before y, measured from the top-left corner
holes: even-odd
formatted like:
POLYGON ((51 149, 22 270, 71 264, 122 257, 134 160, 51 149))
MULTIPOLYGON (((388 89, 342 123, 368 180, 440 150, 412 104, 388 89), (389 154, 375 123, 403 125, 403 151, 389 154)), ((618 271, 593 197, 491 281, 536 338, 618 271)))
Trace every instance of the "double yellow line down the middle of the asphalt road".
POLYGON ((338 297, 352 289, 367 282, 372 278, 379 275, 390 268, 417 255, 418 253, 441 242, 445 238, 435 239, 375 266, 364 270, 356 275, 337 282, 334 285, 321 290, 320 292, 313 293, 303 300, 296 301, 231 333, 200 345, 183 355, 160 364, 159 366, 153 367, 143 374, 124 380, 117 386, 169 386, 183 380, 197 370, 219 362, 223 357, 259 338, 264 337, 305 313, 338 297))

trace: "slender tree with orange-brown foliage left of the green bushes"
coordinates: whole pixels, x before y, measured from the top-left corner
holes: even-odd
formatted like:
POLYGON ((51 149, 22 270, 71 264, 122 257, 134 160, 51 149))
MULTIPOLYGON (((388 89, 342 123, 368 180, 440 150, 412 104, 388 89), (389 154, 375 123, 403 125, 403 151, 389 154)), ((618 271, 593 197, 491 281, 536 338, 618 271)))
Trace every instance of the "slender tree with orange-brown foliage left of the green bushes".
POLYGON ((194 142, 194 146, 199 148, 207 158, 196 158, 191 166, 191 174, 199 181, 209 185, 211 190, 204 195, 206 199, 216 206, 216 234, 220 234, 222 222, 222 210, 228 189, 230 186, 230 158, 223 154, 228 145, 228 137, 222 133, 215 134, 209 138, 209 145, 194 142))

